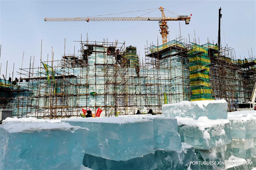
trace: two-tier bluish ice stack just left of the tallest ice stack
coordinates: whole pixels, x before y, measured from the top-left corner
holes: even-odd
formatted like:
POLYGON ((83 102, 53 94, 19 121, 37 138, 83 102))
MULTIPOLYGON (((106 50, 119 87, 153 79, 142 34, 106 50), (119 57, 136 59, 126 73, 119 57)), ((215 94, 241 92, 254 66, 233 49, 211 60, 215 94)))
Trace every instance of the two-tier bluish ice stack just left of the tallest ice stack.
MULTIPOLYGON (((190 166, 189 158, 197 160, 194 148, 188 144, 181 143, 175 118, 157 115, 131 116, 136 119, 153 121, 157 169, 187 169, 190 166)), ((197 169, 197 166, 192 166, 191 168, 197 169)))

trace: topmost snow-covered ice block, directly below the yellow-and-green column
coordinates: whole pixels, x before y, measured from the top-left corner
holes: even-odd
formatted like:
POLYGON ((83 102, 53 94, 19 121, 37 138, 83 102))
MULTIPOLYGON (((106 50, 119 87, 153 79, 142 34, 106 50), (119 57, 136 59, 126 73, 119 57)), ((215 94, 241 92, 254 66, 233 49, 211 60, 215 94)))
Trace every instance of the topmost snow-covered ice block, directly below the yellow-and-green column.
POLYGON ((226 100, 182 101, 164 104, 162 106, 165 117, 192 117, 198 119, 206 116, 208 119, 227 119, 228 104, 226 100))

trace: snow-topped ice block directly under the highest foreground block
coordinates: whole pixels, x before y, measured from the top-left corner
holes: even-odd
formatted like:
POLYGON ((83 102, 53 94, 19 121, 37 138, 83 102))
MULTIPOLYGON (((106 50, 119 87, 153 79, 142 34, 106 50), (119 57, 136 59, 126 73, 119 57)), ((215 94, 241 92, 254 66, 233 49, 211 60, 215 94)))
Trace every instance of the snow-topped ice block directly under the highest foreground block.
POLYGON ((195 149, 209 150, 232 141, 230 122, 227 119, 210 120, 204 116, 198 120, 176 118, 181 142, 192 145, 195 149))

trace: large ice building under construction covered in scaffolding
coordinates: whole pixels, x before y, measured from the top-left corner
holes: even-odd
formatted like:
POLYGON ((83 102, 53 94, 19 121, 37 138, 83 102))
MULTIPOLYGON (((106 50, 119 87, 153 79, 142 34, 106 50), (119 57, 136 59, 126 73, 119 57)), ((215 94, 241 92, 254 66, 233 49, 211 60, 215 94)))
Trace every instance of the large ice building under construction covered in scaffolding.
POLYGON ((140 59, 136 47, 117 42, 81 41, 78 54, 21 68, 20 81, 1 79, 1 108, 14 116, 79 116, 81 108, 104 116, 161 114, 164 103, 226 99, 229 111, 248 101, 255 83, 256 60, 236 59, 234 49, 214 43, 173 40, 148 45, 140 59))

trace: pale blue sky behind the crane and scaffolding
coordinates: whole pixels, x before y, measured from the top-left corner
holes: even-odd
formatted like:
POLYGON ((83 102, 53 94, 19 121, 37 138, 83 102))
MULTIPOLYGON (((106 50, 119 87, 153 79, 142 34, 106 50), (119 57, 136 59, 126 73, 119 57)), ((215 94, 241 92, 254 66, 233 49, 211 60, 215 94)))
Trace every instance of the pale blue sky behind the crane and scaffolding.
MULTIPOLYGON (((54 59, 60 59, 64 54, 64 38, 66 38, 65 53, 76 53, 78 42, 89 41, 126 41, 126 46, 133 45, 138 54, 144 57, 144 46, 148 40, 157 44, 157 37, 161 44, 161 35, 157 21, 129 21, 129 22, 46 22, 45 17, 85 17, 100 14, 119 13, 143 9, 164 7, 180 15, 192 14, 191 22, 185 25, 180 22, 181 36, 188 39, 194 37, 204 44, 209 39, 217 42, 218 9, 222 8, 222 44, 235 49, 236 57, 248 58, 248 51, 255 55, 255 1, 0 1, 0 43, 1 49, 1 78, 6 71, 7 77, 14 77, 21 68, 24 52, 23 68, 29 67, 30 56, 35 57, 35 67, 40 66, 41 39, 42 60, 51 55, 52 47, 54 59), (225 40, 224 40, 225 37, 225 40), (69 52, 70 51, 70 52, 69 52), (71 52, 72 51, 72 52, 71 52)), ((152 10, 151 10, 152 11, 152 10)), ((137 13, 115 14, 112 17, 135 17, 150 11, 137 13)), ((167 16, 172 16, 166 12, 167 16)), ((159 10, 144 16, 160 17, 159 10)), ((179 21, 169 21, 169 40, 179 36, 179 21)))

